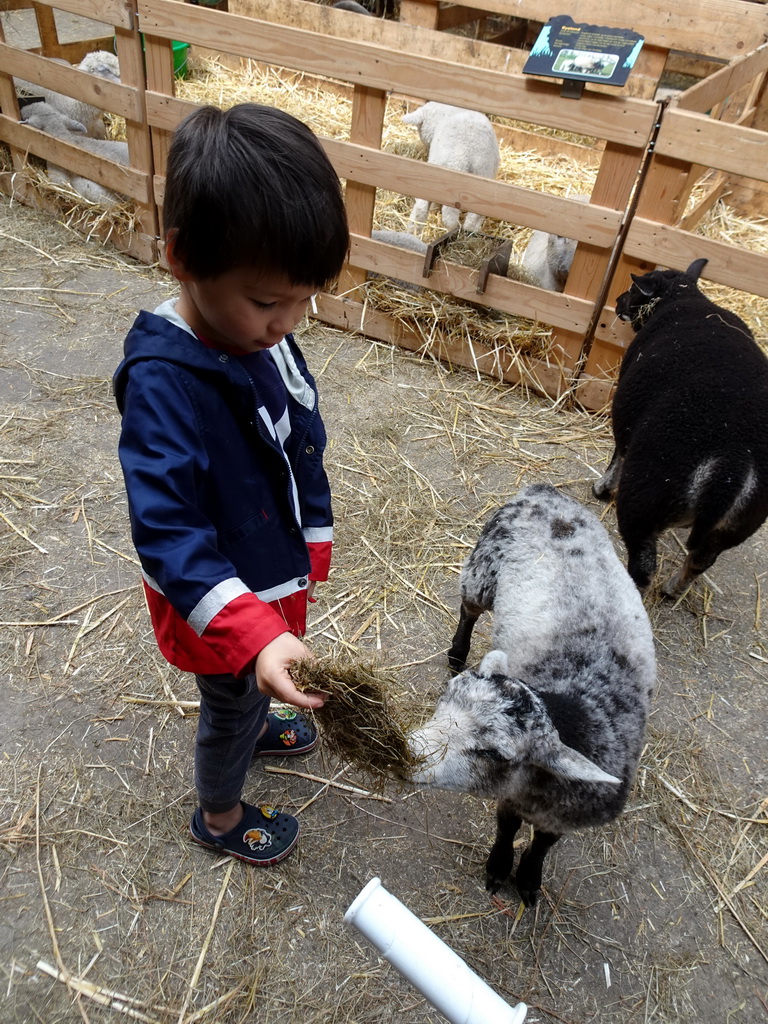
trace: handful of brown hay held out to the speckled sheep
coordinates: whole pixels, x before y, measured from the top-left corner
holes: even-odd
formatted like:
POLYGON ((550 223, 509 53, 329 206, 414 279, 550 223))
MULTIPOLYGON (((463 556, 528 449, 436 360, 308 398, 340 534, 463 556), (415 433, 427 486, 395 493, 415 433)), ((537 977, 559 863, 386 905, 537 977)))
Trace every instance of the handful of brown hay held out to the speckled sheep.
POLYGON ((332 658, 302 658, 289 671, 298 689, 330 694, 312 714, 325 743, 342 761, 382 781, 411 775, 418 761, 387 696, 394 684, 391 675, 375 665, 332 658))

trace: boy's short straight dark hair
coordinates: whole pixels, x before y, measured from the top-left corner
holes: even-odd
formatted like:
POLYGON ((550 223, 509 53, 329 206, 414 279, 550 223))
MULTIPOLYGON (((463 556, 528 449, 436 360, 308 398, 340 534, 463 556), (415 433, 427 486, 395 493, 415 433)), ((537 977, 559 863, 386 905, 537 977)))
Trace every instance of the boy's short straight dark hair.
POLYGON ((202 106, 171 141, 166 237, 195 276, 239 266, 321 288, 349 247, 341 184, 312 131, 272 106, 202 106))

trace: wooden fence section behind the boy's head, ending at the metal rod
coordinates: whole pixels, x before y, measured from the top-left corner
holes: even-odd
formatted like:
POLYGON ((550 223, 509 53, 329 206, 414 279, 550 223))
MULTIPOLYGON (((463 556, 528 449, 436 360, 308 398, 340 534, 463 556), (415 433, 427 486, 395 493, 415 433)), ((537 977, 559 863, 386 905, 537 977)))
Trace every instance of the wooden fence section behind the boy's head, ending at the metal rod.
MULTIPOLYGON (((510 70, 513 54, 504 47, 483 46, 432 31, 416 32, 410 26, 355 17, 304 0, 282 0, 280 5, 250 0, 248 15, 233 13, 231 2, 229 6, 227 14, 204 8, 196 8, 193 13, 176 0, 139 0, 138 12, 150 41, 167 41, 183 32, 183 38, 194 45, 240 53, 354 88, 349 138, 324 140, 339 174, 348 182, 353 246, 343 282, 346 294, 344 298, 324 296, 321 315, 354 329, 360 329, 365 319, 366 333, 398 343, 403 340, 396 325, 367 315, 364 296, 349 291, 369 271, 424 283, 423 260, 418 256, 371 241, 377 187, 451 203, 517 225, 564 233, 575 238, 587 253, 589 274, 580 292, 562 295, 492 276, 486 292, 478 296, 474 272, 456 266, 438 270, 429 281, 430 287, 438 291, 556 326, 562 332, 562 341, 552 346, 545 360, 528 365, 524 359, 510 359, 502 373, 516 380, 522 367, 522 375, 536 386, 543 384, 547 390, 560 393, 570 383, 581 355, 621 229, 628 191, 655 120, 655 104, 591 91, 586 91, 579 101, 566 99, 560 94, 559 83, 531 80, 510 70), (183 30, 180 10, 185 12, 183 30), (574 200, 383 153, 381 128, 387 92, 473 110, 481 105, 489 115, 603 140, 605 148, 600 160, 604 169, 598 175, 598 195, 585 206, 574 200), (482 97, 481 104, 478 96, 482 97), (620 166, 614 168, 614 163, 620 166)), ((150 124, 167 131, 180 117, 181 108, 172 114, 173 102, 166 90, 151 76, 147 84, 150 124)), ((162 172, 160 165, 158 171, 162 172)), ((481 366, 498 366, 496 353, 480 352, 478 356, 477 349, 474 346, 470 351, 468 347, 462 361, 475 366, 479 358, 481 366)))

